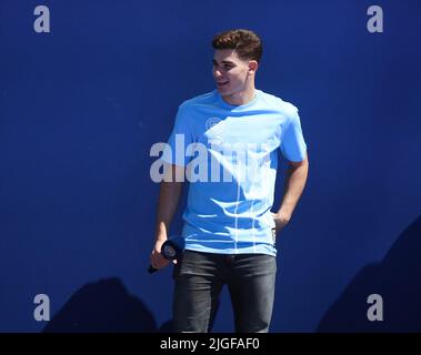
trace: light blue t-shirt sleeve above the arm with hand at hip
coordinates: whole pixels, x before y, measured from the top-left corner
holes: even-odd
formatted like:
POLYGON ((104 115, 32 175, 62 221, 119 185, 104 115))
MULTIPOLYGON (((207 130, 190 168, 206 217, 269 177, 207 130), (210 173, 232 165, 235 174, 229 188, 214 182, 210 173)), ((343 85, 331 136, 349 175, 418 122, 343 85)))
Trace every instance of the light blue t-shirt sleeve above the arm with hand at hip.
POLYGON ((301 130, 298 110, 290 115, 290 122, 283 132, 281 141, 282 155, 291 162, 301 162, 305 159, 307 144, 301 130))

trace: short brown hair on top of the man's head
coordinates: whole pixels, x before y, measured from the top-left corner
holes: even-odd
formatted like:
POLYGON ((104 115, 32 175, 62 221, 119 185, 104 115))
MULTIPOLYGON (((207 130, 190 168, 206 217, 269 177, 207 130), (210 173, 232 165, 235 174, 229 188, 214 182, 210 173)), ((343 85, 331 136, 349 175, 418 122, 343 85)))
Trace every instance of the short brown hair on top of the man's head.
POLYGON ((260 62, 263 48, 262 41, 253 31, 230 30, 218 33, 212 39, 214 49, 233 49, 242 60, 255 60, 260 62))

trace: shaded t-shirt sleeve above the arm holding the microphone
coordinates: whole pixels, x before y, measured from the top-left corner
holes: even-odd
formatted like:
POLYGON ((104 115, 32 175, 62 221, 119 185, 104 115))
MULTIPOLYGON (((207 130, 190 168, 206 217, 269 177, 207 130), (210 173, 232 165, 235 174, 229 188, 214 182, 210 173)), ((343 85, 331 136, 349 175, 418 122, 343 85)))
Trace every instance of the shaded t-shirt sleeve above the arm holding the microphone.
POLYGON ((188 111, 183 105, 178 109, 172 132, 161 156, 167 163, 186 166, 191 160, 191 156, 186 155, 187 146, 193 143, 193 128, 188 111))

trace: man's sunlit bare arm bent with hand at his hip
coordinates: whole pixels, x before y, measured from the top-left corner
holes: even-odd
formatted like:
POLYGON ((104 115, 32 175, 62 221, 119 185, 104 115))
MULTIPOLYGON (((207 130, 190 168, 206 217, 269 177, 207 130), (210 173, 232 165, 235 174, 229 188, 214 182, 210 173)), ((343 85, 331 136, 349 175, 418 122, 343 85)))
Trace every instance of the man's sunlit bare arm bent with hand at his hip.
POLYGON ((309 158, 305 154, 304 160, 301 162, 290 161, 289 165, 282 203, 278 212, 273 213, 277 232, 280 232, 291 220, 292 213, 301 197, 309 173, 309 158))

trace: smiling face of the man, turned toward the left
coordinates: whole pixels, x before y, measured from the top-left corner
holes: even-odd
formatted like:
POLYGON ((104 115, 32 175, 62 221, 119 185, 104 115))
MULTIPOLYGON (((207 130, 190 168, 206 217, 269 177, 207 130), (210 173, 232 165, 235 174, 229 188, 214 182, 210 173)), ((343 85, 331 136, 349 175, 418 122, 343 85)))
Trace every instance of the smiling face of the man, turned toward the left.
POLYGON ((244 61, 231 49, 215 50, 213 78, 222 97, 235 97, 245 92, 253 79, 255 61, 244 61))

